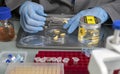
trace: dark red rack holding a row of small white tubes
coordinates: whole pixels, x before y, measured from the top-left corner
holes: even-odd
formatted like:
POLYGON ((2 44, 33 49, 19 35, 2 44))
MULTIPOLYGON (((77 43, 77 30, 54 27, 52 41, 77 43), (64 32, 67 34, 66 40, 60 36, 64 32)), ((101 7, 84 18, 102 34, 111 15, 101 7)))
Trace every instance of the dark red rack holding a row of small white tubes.
MULTIPOLYGON (((62 61, 59 61, 57 63, 64 63, 64 71, 65 74, 89 74, 88 72, 88 63, 89 63, 89 57, 85 56, 81 51, 39 51, 35 58, 62 58, 62 61), (77 63, 73 60, 74 57, 79 58, 79 61, 77 63), (64 62, 64 59, 67 60, 67 63, 64 62)), ((56 60, 57 61, 57 60, 56 60)), ((36 62, 35 63, 41 63, 36 62)), ((46 61, 47 62, 47 61, 46 61)), ((54 63, 54 62, 51 62, 54 63)))

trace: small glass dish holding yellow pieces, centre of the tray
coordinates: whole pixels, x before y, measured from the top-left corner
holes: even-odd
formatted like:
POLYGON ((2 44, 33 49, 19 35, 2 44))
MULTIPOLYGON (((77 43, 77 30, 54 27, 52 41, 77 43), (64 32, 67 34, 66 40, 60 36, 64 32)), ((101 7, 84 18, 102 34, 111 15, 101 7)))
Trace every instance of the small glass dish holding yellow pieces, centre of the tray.
POLYGON ((54 26, 46 31, 47 44, 61 45, 65 44, 66 31, 60 26, 54 26))

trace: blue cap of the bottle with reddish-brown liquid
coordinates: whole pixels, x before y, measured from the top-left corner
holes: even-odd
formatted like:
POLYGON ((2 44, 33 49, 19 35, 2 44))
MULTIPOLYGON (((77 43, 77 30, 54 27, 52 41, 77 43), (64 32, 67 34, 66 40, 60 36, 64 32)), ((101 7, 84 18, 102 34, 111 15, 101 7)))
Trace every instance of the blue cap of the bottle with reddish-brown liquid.
POLYGON ((0 7, 0 20, 11 18, 11 11, 8 7, 0 7))

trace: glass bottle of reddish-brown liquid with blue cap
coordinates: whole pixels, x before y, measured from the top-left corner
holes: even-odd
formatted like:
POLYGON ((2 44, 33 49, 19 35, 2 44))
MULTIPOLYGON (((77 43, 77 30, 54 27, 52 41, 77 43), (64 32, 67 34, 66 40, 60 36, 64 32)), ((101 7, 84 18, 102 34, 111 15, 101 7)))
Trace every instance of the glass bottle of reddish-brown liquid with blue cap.
POLYGON ((0 41, 11 41, 14 36, 14 27, 9 22, 11 12, 8 7, 0 7, 0 41))

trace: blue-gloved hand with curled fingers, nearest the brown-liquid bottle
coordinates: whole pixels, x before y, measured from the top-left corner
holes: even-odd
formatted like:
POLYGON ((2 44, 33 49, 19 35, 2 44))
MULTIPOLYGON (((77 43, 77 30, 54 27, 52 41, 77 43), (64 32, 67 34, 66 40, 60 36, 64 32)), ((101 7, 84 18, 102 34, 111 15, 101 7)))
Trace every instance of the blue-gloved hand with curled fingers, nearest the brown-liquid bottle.
POLYGON ((20 24, 24 31, 36 33, 43 30, 47 14, 44 13, 42 5, 26 1, 19 10, 20 24))

